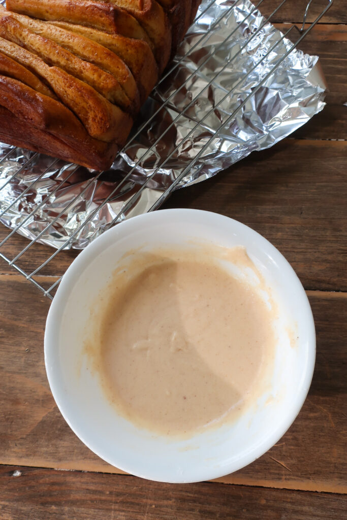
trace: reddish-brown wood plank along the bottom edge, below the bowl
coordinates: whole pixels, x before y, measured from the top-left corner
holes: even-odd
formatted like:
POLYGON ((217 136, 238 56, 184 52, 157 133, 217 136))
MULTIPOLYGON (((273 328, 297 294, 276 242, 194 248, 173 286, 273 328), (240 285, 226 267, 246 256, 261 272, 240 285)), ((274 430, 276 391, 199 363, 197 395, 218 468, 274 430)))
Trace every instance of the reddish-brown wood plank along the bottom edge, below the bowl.
POLYGON ((223 484, 161 484, 125 476, 0 467, 2 520, 342 520, 346 498, 223 484), (17 475, 17 476, 16 476, 17 475))

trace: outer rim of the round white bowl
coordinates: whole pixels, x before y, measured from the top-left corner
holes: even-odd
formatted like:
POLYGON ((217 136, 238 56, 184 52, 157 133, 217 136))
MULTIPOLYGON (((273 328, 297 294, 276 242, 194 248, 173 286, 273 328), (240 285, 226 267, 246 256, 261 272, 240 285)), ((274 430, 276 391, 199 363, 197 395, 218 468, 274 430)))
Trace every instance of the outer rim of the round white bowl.
MULTIPOLYGON (((75 433, 76 436, 79 437, 79 439, 91 450, 93 451, 98 457, 100 457, 102 460, 105 460, 109 464, 119 468, 122 471, 125 471, 126 473, 130 473, 142 478, 147 478, 151 480, 157 480, 158 482, 168 482, 168 483, 192 483, 192 482, 201 482, 202 480, 210 480, 213 478, 219 478, 222 476, 225 476, 229 473, 233 473, 242 467, 245 467, 246 465, 250 464, 254 460, 261 457, 266 451, 268 451, 272 446, 274 446, 277 441, 286 433, 288 428, 291 426, 291 424, 294 422, 295 418, 297 417, 298 413, 300 412, 303 403, 306 399, 307 393, 309 391, 312 377, 313 377, 313 371, 315 366, 315 354, 316 354, 316 335, 315 335, 315 326, 314 326, 314 319, 312 315, 311 306, 309 303, 309 300, 307 298, 307 295, 305 293, 305 290, 287 261, 287 259, 275 248, 275 246, 269 242, 265 237, 260 235, 260 233, 256 232, 249 226, 246 226, 245 224, 240 223, 238 220, 234 220, 230 217, 227 217, 225 215, 221 215, 214 212, 204 211, 204 210, 194 210, 194 209, 167 209, 167 210, 158 210, 156 212, 150 212, 145 213, 142 215, 138 215, 132 218, 129 218, 127 220, 124 220, 123 222, 117 224, 113 228, 108 229, 104 233, 102 233, 101 236, 96 238, 91 244, 89 244, 71 263, 71 265, 68 267, 67 271, 63 275, 58 290, 54 296, 54 299, 50 305, 47 320, 46 320, 46 328, 45 328, 45 334, 44 334, 44 358, 45 358, 45 368, 47 373, 47 379, 50 386, 50 390, 53 394, 53 397, 56 401, 56 404, 59 408, 60 413, 62 414, 65 421, 70 426, 71 430, 75 433), (78 424, 73 424, 73 420, 71 420, 68 417, 68 414, 65 412, 65 407, 63 405, 63 398, 62 396, 62 388, 61 388, 61 382, 59 387, 59 380, 57 378, 57 371, 55 371, 54 363, 52 365, 51 358, 53 356, 54 350, 58 346, 58 334, 57 331, 59 330, 59 323, 60 319, 63 314, 63 310, 65 308, 65 304, 68 300, 70 292, 73 290, 74 284, 78 280, 79 276, 83 272, 84 269, 86 269, 89 265, 89 263, 93 262, 96 258, 95 251, 99 248, 107 248, 108 246, 112 245, 114 242, 116 242, 119 238, 119 235, 122 234, 126 229, 128 228, 129 231, 131 229, 136 229, 138 224, 141 224, 144 220, 148 221, 147 225, 150 225, 151 222, 155 222, 157 218, 160 219, 160 215, 163 213, 165 214, 173 214, 173 215, 180 215, 186 216, 189 218, 190 215, 195 214, 203 214, 204 217, 211 217, 211 218, 221 218, 228 220, 229 223, 232 223, 232 225, 236 225, 239 227, 239 229, 247 229, 248 232, 251 231, 254 233, 254 236, 258 236, 260 238, 264 245, 266 245, 266 251, 269 251, 272 255, 277 256, 277 258, 280 258, 280 261, 287 269, 287 276, 291 276, 293 279, 294 284, 297 285, 298 289, 298 298, 301 298, 301 303, 305 306, 306 311, 306 317, 309 318, 309 322, 306 324, 307 330, 308 330, 308 336, 309 336, 309 345, 307 349, 307 361, 305 370, 302 373, 301 380, 300 380, 300 392, 297 392, 295 401, 293 401, 292 406, 290 408, 290 413, 286 415, 286 419, 282 420, 280 426, 277 428, 274 428, 274 430, 264 439, 264 441, 258 445, 255 446, 252 450, 249 450, 245 456, 238 459, 237 461, 232 461, 226 464, 221 465, 220 467, 211 467, 207 469, 199 469, 199 471, 194 471, 194 468, 190 468, 189 477, 187 478, 187 474, 182 475, 181 477, 177 474, 170 475, 170 465, 168 465, 168 471, 166 472, 166 475, 156 475, 155 472, 149 472, 148 474, 136 471, 136 467, 133 467, 131 464, 127 466, 124 463, 117 463, 115 460, 110 460, 110 458, 107 457, 107 453, 101 452, 99 449, 95 449, 93 447, 93 443, 89 442, 89 440, 86 438, 87 435, 85 432, 81 431, 81 428, 78 424)), ((83 430, 83 428, 82 428, 83 430)), ((227 458, 227 457, 226 457, 227 458)))

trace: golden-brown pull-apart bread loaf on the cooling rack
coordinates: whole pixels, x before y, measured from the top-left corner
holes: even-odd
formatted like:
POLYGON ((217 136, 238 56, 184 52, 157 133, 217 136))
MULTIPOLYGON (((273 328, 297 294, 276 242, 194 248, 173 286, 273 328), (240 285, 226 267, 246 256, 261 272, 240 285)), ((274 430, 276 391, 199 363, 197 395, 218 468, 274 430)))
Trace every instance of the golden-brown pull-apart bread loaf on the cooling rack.
POLYGON ((108 168, 197 0, 7 0, 0 140, 108 168))

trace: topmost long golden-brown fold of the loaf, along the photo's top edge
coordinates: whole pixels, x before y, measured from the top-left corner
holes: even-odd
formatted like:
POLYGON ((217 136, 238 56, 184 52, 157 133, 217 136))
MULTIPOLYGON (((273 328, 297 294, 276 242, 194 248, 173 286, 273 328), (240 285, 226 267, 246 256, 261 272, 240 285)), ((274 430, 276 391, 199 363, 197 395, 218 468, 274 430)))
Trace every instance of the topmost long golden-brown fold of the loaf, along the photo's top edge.
POLYGON ((120 33, 144 40, 152 46, 138 21, 109 3, 94 0, 6 0, 6 8, 40 20, 79 23, 108 33, 120 33))

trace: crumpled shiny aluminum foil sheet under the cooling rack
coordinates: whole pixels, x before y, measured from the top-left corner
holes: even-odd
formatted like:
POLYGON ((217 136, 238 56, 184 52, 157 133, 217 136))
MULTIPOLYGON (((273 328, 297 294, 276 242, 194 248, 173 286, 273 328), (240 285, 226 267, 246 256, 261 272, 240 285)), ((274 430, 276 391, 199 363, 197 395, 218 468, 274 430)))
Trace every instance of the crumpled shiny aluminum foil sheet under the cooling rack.
POLYGON ((205 0, 111 170, 0 144, 0 222, 54 248, 82 249, 149 211, 173 183, 189 186, 273 146, 325 105, 316 56, 295 49, 271 73, 291 45, 248 0, 205 0))

